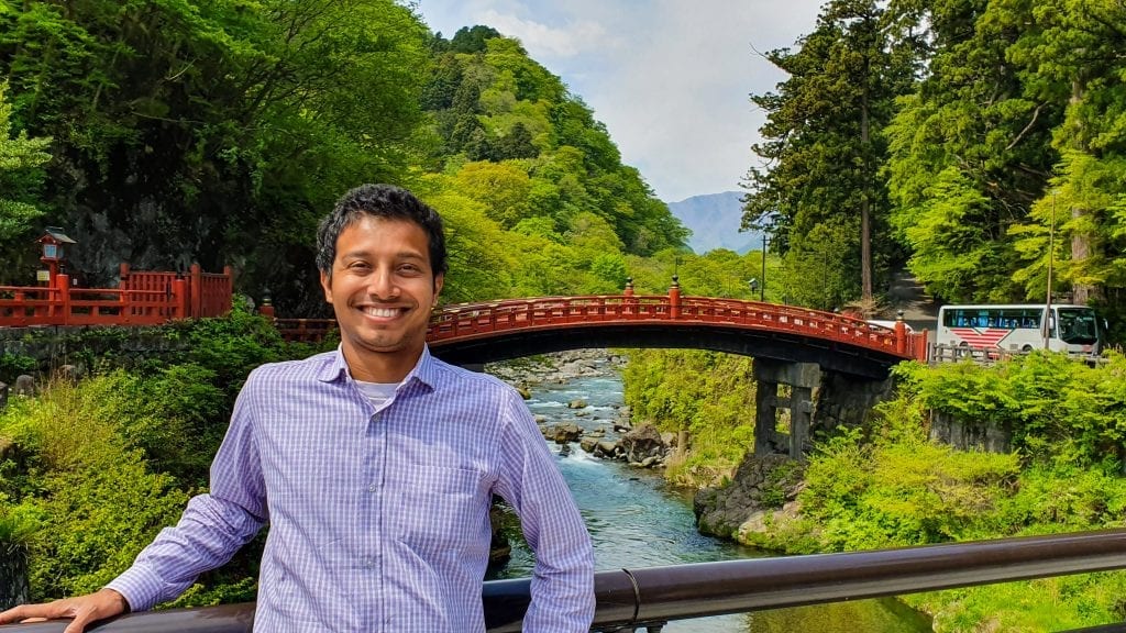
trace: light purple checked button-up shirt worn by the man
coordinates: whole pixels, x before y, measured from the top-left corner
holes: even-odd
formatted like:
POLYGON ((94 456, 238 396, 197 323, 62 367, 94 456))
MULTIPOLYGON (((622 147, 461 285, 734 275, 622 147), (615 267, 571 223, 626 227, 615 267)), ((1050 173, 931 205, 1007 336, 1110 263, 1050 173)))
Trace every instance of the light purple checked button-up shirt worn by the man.
POLYGON ((429 350, 378 410, 339 350, 254 369, 211 476, 108 585, 134 610, 175 599, 269 521, 254 631, 481 632, 497 493, 536 553, 524 630, 590 628, 590 537, 528 409, 429 350))

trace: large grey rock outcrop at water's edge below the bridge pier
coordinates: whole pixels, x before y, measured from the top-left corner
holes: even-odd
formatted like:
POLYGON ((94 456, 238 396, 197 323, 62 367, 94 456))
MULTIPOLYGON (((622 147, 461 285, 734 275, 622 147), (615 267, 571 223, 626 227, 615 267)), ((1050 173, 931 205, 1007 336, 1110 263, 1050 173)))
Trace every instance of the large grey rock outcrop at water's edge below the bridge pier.
POLYGON ((804 473, 804 465, 786 455, 748 455, 730 483, 696 493, 697 528, 736 538, 741 532, 762 529, 768 515, 795 514, 804 473))

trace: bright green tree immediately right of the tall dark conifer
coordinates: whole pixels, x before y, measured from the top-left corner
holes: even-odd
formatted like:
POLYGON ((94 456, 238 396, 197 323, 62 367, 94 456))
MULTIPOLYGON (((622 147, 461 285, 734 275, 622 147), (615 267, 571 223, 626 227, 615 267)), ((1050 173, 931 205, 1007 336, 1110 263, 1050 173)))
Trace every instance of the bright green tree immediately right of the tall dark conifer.
POLYGON ((949 301, 1013 301, 1010 229, 1039 197, 1058 102, 1029 98, 1010 47, 1039 27, 1025 2, 896 2, 932 44, 888 127, 892 223, 910 269, 949 301))

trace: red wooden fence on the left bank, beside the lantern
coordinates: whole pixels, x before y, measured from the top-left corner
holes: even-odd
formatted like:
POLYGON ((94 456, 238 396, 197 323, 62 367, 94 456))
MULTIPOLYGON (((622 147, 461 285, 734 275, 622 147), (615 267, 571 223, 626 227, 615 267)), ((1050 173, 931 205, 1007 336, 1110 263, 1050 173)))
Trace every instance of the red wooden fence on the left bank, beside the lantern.
POLYGON ((0 327, 155 326, 173 319, 220 316, 231 311, 231 268, 204 273, 134 273, 120 266, 116 288, 71 287, 55 275, 41 287, 0 286, 0 327))

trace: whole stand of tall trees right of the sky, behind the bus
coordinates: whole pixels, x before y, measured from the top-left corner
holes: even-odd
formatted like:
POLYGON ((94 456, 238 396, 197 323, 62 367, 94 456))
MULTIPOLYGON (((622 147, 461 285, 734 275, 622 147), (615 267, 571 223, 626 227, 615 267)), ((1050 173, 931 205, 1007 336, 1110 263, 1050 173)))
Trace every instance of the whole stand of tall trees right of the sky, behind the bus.
POLYGON ((1043 300, 1052 262, 1063 297, 1121 312, 1124 25, 1114 0, 826 2, 753 97, 744 224, 772 226, 795 301, 903 264, 942 300, 1043 300))

